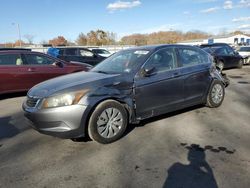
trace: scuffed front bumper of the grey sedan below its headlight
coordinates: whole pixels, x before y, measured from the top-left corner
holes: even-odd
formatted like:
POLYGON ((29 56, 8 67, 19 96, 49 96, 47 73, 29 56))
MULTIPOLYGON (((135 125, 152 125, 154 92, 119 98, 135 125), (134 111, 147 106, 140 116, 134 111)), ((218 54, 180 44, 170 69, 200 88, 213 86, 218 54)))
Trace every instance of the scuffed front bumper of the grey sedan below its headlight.
POLYGON ((32 128, 60 138, 85 136, 86 109, 87 106, 83 105, 37 109, 23 103, 24 115, 31 121, 32 128))

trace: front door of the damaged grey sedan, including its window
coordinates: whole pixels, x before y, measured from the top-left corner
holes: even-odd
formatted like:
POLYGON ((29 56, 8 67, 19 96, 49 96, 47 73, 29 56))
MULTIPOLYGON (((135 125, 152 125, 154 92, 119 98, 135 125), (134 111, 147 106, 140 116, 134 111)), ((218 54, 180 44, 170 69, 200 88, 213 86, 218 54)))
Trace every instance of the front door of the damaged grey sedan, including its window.
POLYGON ((135 78, 137 117, 144 119, 173 111, 183 103, 183 78, 177 67, 175 49, 168 47, 154 53, 142 68, 154 70, 151 75, 139 73, 135 78))

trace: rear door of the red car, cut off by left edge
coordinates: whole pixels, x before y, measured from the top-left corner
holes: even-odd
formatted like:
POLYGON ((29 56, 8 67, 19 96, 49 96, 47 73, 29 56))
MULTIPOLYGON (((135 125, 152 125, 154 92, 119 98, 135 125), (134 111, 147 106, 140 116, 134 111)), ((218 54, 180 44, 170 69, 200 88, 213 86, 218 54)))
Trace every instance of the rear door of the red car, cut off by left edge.
POLYGON ((0 55, 0 93, 27 90, 26 79, 27 67, 20 53, 0 55))

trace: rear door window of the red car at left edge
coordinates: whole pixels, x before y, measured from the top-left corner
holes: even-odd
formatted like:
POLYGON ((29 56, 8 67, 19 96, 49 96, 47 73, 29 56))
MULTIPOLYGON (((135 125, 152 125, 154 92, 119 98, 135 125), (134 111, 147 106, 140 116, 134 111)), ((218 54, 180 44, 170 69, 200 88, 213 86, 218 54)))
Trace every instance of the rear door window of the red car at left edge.
POLYGON ((23 60, 19 54, 0 55, 0 65, 23 65, 23 60))

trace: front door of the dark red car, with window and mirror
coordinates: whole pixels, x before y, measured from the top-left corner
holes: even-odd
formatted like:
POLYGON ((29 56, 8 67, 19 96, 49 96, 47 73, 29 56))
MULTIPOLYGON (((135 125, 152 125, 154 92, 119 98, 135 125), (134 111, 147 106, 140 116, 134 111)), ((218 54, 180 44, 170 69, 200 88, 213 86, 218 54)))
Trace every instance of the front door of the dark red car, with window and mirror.
POLYGON ((53 58, 40 54, 22 54, 25 64, 27 64, 27 82, 29 87, 37 83, 61 76, 67 73, 67 69, 59 66, 53 58))

